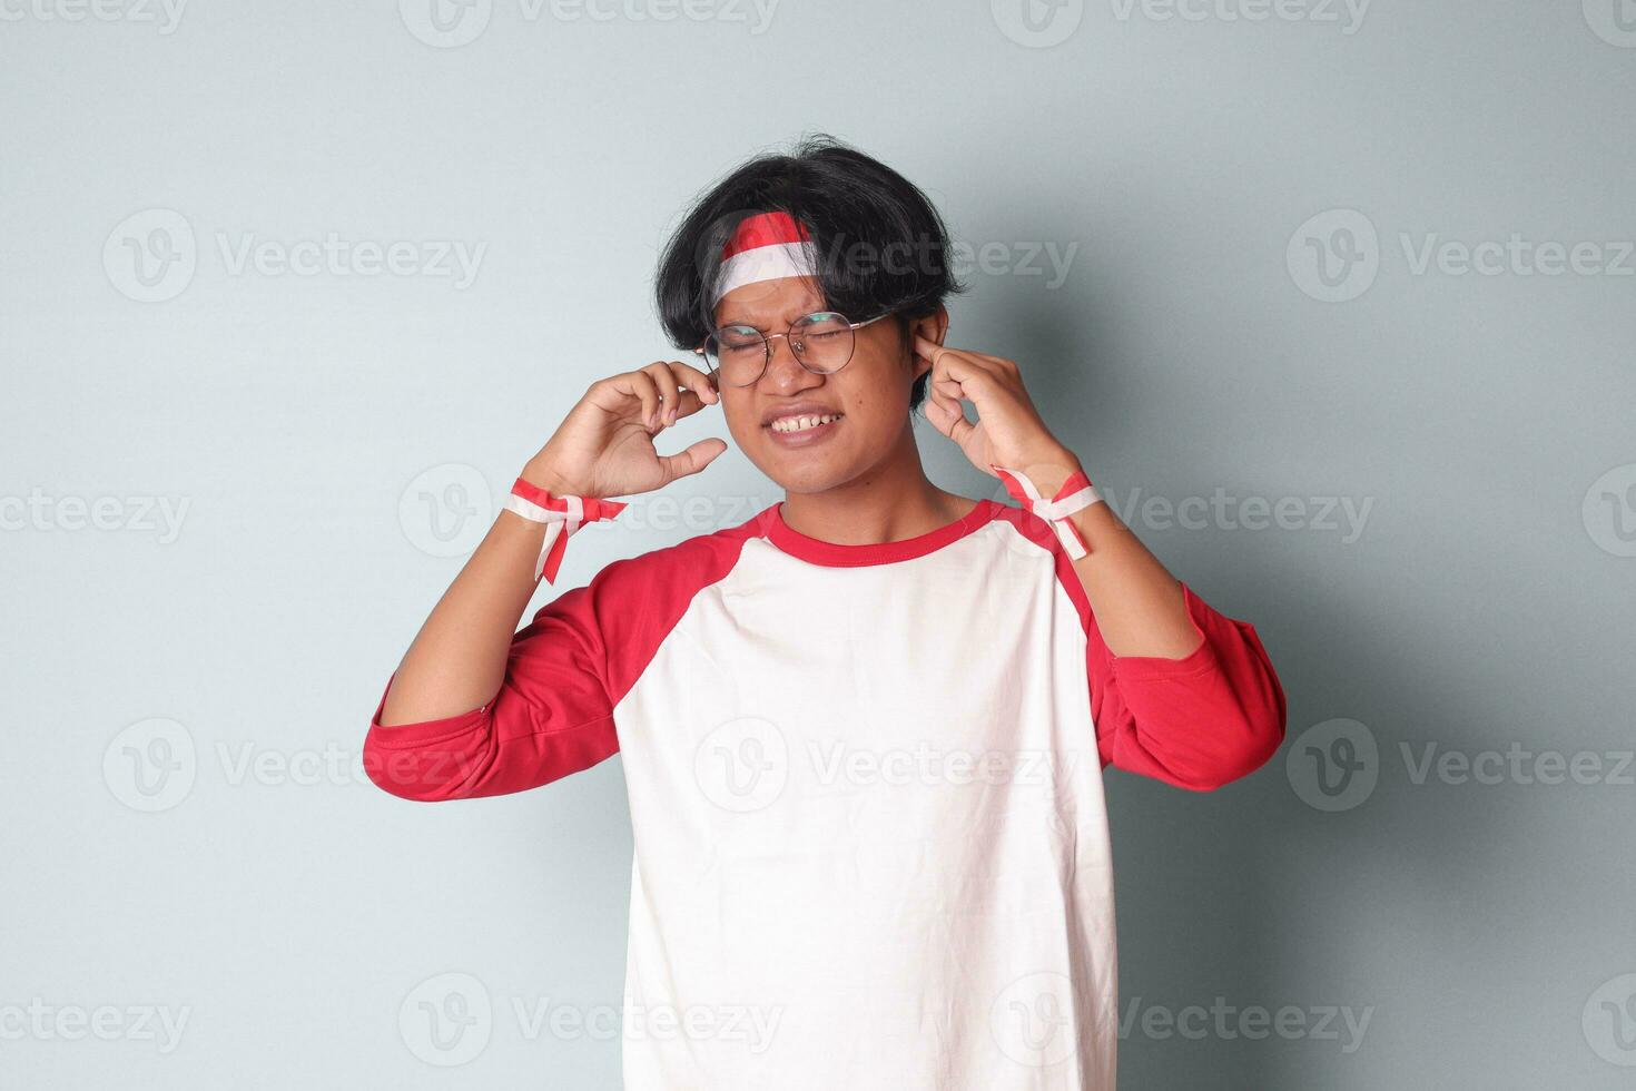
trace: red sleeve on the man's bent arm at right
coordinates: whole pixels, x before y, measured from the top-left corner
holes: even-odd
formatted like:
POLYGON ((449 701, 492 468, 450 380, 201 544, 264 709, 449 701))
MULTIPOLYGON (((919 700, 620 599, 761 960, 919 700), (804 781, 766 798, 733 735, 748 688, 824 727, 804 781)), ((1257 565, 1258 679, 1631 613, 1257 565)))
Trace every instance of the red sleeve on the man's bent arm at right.
MULTIPOLYGON (((1068 579, 1078 587, 1072 571, 1068 579)), ((1204 638, 1181 659, 1114 656, 1081 605, 1091 718, 1104 765, 1207 792, 1255 772, 1278 751, 1286 700, 1255 626, 1217 613, 1186 584, 1181 590, 1204 638)))

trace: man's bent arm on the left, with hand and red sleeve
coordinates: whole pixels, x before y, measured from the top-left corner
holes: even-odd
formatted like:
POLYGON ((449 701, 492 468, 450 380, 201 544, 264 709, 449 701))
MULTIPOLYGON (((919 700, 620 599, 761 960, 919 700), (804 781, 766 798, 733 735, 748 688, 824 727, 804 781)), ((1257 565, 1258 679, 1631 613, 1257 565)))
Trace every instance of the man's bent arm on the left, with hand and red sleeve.
MULTIPOLYGON (((659 489, 726 450, 659 455, 653 437, 717 404, 710 378, 656 361, 591 384, 520 474, 553 496, 659 489)), ((517 630, 538 587, 545 523, 506 509, 420 626, 370 720, 370 779, 411 800, 522 792, 618 749, 599 602, 610 568, 517 630)))

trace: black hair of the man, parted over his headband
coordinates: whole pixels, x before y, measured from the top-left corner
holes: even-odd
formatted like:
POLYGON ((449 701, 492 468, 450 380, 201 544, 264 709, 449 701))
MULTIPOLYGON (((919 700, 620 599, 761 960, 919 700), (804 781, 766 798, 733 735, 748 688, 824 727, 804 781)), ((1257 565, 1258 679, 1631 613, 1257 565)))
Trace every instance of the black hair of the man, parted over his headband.
MULTIPOLYGON (((721 247, 739 221, 769 211, 789 213, 816 245, 825 306, 854 322, 893 312, 905 347, 911 321, 965 291, 949 270, 947 227, 926 195, 880 160, 816 132, 789 152, 744 160, 685 211, 654 275, 659 322, 676 348, 690 350, 710 334, 721 247)), ((926 397, 926 378, 915 381, 911 412, 926 397)))

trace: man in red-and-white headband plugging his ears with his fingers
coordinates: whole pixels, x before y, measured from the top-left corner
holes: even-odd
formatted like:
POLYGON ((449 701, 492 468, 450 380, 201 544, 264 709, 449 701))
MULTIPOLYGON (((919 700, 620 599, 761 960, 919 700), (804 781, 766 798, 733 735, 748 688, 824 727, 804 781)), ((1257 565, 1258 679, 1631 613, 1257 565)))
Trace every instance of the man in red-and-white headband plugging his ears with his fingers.
POLYGON ((919 190, 833 141, 712 188, 658 278, 707 370, 586 391, 371 721, 366 769, 411 800, 622 754, 631 1091, 1111 1091, 1101 769, 1206 790, 1283 739, 1253 626, 1099 502, 1014 361, 944 345, 946 250, 919 190), (923 402, 1019 507, 926 478, 923 402), (514 631, 609 497, 726 450, 653 447, 708 407, 784 502, 514 631))

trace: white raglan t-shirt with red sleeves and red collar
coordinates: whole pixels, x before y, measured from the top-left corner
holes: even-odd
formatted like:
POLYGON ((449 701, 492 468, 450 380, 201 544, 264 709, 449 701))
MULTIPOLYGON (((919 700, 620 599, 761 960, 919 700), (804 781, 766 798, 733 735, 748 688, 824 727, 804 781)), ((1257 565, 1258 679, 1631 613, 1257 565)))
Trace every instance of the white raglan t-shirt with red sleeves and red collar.
POLYGON ((1284 734, 1255 628, 1183 594, 1196 651, 1112 656, 1032 512, 833 545, 774 504, 560 594, 481 708, 383 692, 365 767, 435 801, 622 756, 630 1091, 1112 1091, 1103 767, 1207 790, 1284 734))

